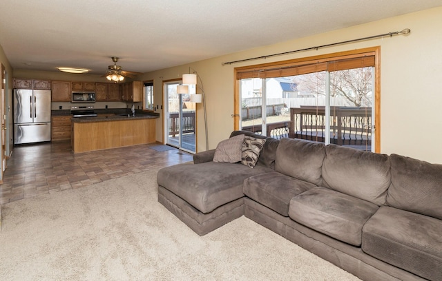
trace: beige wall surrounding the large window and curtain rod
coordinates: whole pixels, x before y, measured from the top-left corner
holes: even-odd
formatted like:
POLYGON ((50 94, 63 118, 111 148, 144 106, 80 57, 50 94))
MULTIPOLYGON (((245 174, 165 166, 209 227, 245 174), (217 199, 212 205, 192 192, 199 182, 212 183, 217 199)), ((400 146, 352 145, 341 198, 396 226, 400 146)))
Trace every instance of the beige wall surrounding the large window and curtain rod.
MULTIPOLYGON (((200 74, 206 92, 209 148, 233 129, 233 68, 305 56, 381 46, 381 153, 402 154, 442 163, 442 8, 434 8, 352 28, 318 34, 263 48, 221 56, 143 74, 153 79, 155 105, 162 105, 162 81, 177 79, 192 67, 200 74), (384 37, 268 59, 222 65, 279 52, 325 45, 410 28, 407 35, 384 37)), ((198 105, 198 151, 205 149, 202 107, 198 105)), ((157 141, 162 141, 162 121, 157 121, 157 141)))

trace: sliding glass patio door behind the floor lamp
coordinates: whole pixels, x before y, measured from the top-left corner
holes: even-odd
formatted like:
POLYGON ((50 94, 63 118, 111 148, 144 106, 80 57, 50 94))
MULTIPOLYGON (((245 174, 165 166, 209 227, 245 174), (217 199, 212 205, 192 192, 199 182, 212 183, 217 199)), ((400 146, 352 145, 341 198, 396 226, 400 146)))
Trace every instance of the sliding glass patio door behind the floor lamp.
POLYGON ((196 152, 195 103, 189 94, 177 94, 180 81, 164 83, 164 127, 166 144, 194 154, 196 152))

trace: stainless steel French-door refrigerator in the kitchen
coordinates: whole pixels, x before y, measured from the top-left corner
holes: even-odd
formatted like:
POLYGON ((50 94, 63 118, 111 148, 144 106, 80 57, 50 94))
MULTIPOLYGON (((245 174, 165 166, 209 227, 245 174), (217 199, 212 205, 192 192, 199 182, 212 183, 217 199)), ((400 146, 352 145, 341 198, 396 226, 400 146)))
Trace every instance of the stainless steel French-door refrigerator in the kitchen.
POLYGON ((50 90, 14 90, 14 144, 50 141, 50 90))

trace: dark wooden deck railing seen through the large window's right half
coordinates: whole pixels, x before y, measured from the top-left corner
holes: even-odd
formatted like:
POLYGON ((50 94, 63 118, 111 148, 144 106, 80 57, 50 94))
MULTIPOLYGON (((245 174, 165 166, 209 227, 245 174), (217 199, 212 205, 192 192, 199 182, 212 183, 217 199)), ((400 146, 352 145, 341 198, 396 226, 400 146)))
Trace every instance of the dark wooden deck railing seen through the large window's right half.
MULTIPOLYGON (((371 107, 331 107, 330 115, 330 143, 371 146, 371 107)), ((292 107, 290 118, 291 138, 325 141, 325 107, 292 107)))

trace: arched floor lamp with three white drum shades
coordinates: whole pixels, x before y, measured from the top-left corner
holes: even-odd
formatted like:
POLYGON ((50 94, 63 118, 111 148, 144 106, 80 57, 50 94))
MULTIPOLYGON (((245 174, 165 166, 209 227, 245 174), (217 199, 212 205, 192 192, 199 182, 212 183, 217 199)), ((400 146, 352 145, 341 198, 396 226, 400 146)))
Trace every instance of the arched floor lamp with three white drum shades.
MULTIPOLYGON (((189 67, 189 72, 190 70, 191 69, 189 67)), ((190 96, 192 103, 202 103, 202 108, 204 111, 204 129, 206 134, 206 150, 209 150, 209 138, 207 136, 206 94, 204 93, 201 77, 198 75, 198 72, 193 70, 193 73, 182 74, 182 83, 186 85, 178 85, 178 94, 189 94, 189 86, 187 85, 196 85, 201 92, 201 94, 191 94, 190 96), (198 83, 198 79, 200 80, 200 83, 198 83)))

